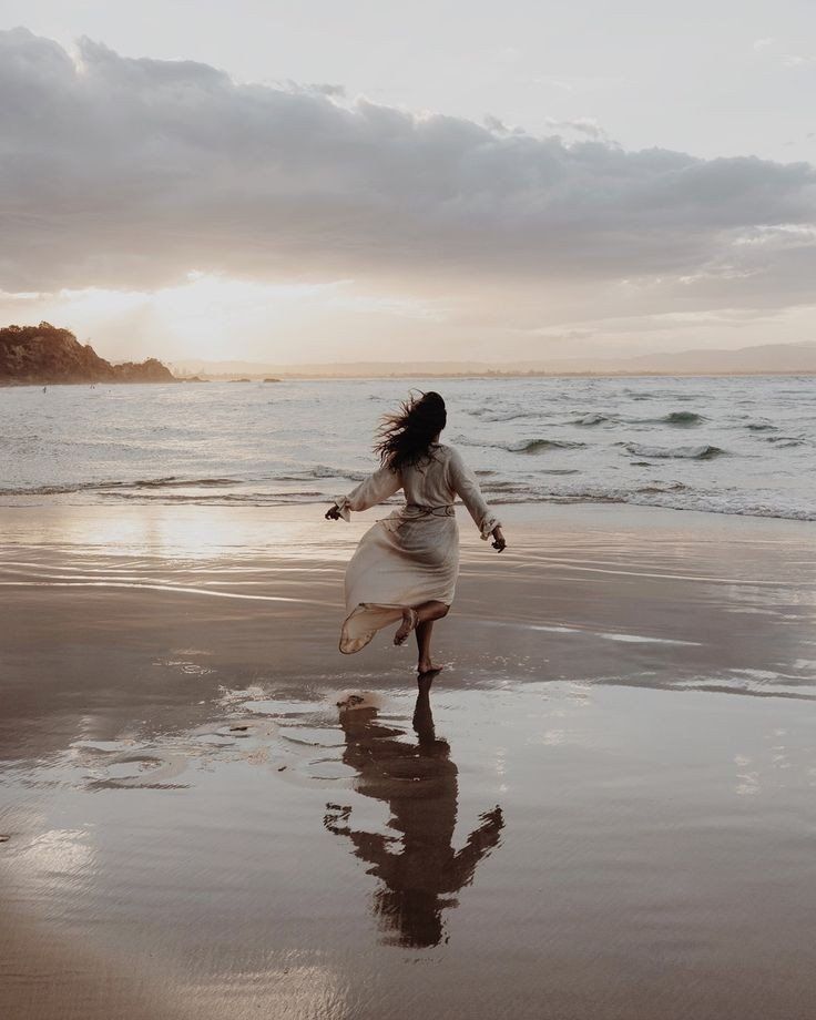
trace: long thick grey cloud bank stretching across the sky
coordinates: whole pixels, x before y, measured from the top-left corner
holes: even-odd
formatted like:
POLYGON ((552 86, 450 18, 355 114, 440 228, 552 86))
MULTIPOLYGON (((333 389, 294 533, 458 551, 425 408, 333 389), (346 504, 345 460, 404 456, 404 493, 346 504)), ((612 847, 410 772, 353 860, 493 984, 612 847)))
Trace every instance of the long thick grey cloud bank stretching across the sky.
MULTIPOLYGON (((777 257, 741 238, 816 222, 809 164, 567 145, 345 103, 337 86, 236 84, 86 39, 78 52, 0 33, 7 290, 156 286, 191 268, 733 282, 777 257)), ((794 292, 814 251, 785 248, 794 292)))

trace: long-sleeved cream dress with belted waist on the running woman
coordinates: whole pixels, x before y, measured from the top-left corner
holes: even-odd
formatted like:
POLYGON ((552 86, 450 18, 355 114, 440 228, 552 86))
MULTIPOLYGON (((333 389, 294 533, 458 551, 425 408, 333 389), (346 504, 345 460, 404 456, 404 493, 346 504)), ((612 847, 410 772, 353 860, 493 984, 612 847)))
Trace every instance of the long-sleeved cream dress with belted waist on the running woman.
POLYGON ((391 471, 384 467, 336 502, 344 520, 400 489, 405 506, 377 521, 360 539, 346 569, 347 616, 340 651, 359 652, 378 630, 402 618, 406 606, 431 600, 450 605, 459 574, 459 528, 453 499, 459 496, 481 537, 500 527, 461 455, 434 443, 420 463, 391 471))

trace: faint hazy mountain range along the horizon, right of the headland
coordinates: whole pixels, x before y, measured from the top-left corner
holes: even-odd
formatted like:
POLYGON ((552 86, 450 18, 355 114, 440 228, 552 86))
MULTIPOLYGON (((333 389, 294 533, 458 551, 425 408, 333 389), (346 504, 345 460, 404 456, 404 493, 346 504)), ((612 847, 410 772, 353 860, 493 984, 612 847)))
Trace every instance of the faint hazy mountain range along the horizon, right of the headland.
POLYGON ((173 364, 176 375, 210 379, 406 378, 490 375, 813 375, 816 344, 763 344, 736 350, 679 350, 631 358, 553 358, 548 361, 335 361, 277 365, 266 361, 202 361, 173 364))

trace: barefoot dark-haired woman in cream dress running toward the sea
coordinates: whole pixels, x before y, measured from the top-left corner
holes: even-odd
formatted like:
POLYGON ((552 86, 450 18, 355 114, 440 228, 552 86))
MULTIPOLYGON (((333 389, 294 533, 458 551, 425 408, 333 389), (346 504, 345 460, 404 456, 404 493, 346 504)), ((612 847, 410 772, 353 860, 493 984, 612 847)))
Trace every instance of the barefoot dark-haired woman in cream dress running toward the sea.
POLYGON ((406 503, 363 536, 346 570, 346 611, 340 651, 359 652, 378 630, 399 621, 395 644, 417 632, 420 675, 436 673, 430 654, 434 621, 448 614, 459 573, 459 529, 453 499, 461 497, 481 537, 504 549, 501 523, 479 491, 473 472, 439 442, 447 414, 439 394, 424 394, 387 415, 379 430, 381 467, 326 512, 350 520, 400 489, 406 503))

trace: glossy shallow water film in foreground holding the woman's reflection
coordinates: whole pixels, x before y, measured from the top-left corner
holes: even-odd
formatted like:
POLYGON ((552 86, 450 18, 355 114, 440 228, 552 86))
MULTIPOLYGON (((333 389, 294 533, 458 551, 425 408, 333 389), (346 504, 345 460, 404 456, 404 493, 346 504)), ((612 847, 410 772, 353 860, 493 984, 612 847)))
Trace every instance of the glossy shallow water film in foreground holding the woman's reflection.
POLYGON ((175 1017, 809 1016, 814 713, 504 680, 80 737, 7 783, 7 888, 175 1017))

